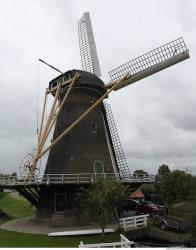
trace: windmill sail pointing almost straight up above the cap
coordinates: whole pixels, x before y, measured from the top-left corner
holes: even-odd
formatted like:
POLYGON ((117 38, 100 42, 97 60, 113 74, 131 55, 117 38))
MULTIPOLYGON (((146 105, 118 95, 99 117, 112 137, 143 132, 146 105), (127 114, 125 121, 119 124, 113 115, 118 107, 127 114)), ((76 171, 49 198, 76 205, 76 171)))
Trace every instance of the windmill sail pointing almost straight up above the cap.
POLYGON ((101 77, 89 12, 85 12, 78 21, 78 38, 82 69, 101 77))

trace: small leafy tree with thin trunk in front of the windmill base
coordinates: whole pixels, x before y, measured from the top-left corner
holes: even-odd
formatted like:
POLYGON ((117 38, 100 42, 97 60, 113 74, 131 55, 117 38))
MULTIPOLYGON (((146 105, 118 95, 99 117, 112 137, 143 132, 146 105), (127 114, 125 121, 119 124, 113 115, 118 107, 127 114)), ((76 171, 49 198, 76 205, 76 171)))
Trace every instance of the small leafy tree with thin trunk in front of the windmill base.
POLYGON ((102 229, 108 222, 115 219, 128 197, 127 186, 115 181, 99 181, 88 188, 80 188, 76 201, 78 207, 88 217, 96 219, 102 229))

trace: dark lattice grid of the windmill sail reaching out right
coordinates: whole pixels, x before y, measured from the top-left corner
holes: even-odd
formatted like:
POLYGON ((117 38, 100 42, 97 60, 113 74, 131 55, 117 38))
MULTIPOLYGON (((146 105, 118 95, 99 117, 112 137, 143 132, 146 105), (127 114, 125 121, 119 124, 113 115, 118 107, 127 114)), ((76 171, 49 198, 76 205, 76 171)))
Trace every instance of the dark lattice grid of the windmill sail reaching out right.
POLYGON ((180 37, 111 70, 108 74, 112 81, 127 74, 133 76, 185 52, 188 52, 188 49, 183 38, 180 37))

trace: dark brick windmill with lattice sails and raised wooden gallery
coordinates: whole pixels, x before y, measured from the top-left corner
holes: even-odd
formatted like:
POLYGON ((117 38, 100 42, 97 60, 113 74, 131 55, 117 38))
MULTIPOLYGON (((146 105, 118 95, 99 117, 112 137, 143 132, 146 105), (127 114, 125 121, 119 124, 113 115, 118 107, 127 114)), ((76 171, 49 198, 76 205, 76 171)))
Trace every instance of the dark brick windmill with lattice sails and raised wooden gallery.
POLYGON ((78 22, 78 36, 83 70, 63 73, 49 65, 60 75, 45 92, 36 150, 23 159, 23 176, 7 180, 37 207, 37 217, 53 218, 56 224, 63 221, 63 225, 82 223, 74 201, 78 185, 103 178, 136 188, 151 181, 150 176, 131 176, 111 107, 105 99, 112 91, 189 58, 183 39, 178 38, 111 70, 111 81, 104 84, 88 12, 78 22), (44 123, 49 94, 54 99, 44 123), (52 142, 45 146, 52 128, 52 142), (36 174, 38 161, 47 152, 46 168, 40 177, 36 174))

